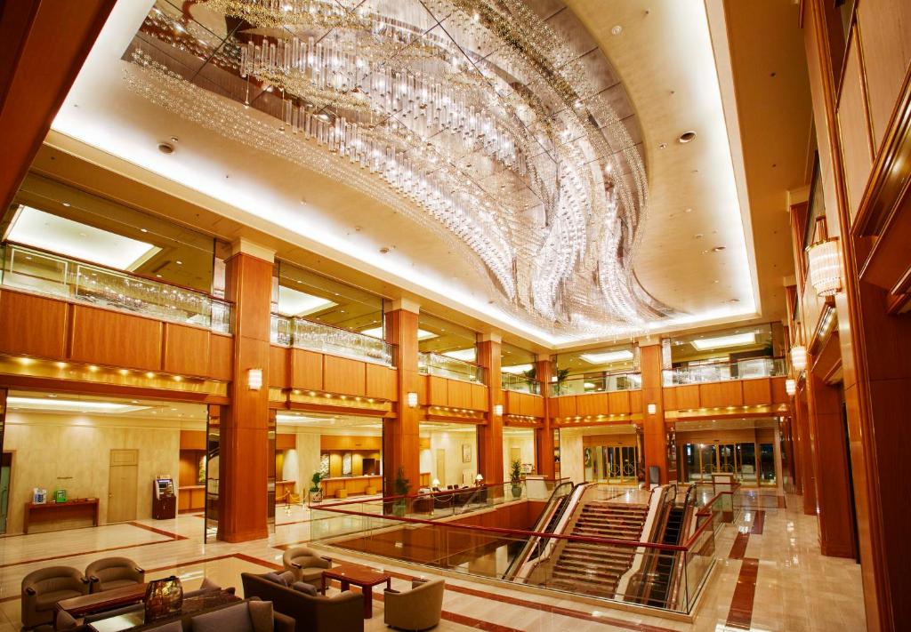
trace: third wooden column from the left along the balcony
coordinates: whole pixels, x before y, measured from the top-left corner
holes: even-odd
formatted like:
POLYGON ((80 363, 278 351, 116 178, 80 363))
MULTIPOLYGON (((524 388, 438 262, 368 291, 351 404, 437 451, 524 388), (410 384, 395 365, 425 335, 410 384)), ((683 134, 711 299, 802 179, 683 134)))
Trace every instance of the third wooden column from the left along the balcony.
POLYGON ((487 423, 477 427, 477 471, 488 484, 503 483, 503 415, 495 413, 495 407, 503 405, 500 346, 500 337, 493 333, 477 343, 477 363, 484 367, 487 381, 487 423))

